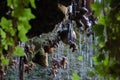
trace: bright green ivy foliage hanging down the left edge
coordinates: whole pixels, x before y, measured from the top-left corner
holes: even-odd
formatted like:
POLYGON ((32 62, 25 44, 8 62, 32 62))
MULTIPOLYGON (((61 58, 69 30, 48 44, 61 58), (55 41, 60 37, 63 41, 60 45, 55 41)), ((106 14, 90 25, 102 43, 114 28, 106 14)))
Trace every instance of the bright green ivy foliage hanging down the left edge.
MULTIPOLYGON (((11 55, 12 53, 19 56, 24 55, 23 50, 16 46, 18 41, 25 42, 28 40, 26 33, 31 28, 29 20, 35 18, 28 6, 30 3, 35 8, 34 1, 7 0, 7 5, 4 6, 8 6, 12 10, 9 11, 9 17, 2 16, 0 19, 0 56, 11 55)), ((6 64, 8 60, 2 62, 6 64)))

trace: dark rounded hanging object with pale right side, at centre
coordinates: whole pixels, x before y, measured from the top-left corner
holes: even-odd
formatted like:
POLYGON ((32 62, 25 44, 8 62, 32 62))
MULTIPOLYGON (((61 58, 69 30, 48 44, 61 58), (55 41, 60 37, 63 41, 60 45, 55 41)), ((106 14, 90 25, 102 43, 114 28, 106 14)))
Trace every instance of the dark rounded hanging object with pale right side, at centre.
POLYGON ((63 43, 68 44, 70 48, 73 48, 73 52, 77 50, 77 45, 75 43, 76 33, 73 30, 72 23, 68 22, 63 24, 62 30, 58 31, 58 36, 63 43))

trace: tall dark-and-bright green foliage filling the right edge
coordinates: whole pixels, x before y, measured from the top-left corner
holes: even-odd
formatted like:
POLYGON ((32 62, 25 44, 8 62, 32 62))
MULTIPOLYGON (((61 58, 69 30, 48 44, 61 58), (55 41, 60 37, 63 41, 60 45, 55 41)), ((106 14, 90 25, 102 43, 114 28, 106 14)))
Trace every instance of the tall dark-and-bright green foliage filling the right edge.
POLYGON ((120 1, 96 0, 92 9, 98 17, 98 24, 93 27, 99 53, 94 57, 95 70, 100 76, 111 76, 113 80, 120 76, 120 1))

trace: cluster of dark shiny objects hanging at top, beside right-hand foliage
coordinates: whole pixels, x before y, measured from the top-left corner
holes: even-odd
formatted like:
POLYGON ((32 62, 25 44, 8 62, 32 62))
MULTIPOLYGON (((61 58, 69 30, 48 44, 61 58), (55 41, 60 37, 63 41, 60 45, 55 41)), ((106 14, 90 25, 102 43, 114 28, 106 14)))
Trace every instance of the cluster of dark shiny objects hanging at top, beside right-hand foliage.
POLYGON ((74 20, 80 31, 86 32, 88 36, 93 34, 92 26, 96 24, 96 18, 94 17, 93 12, 90 10, 89 4, 93 2, 93 0, 74 0, 73 4, 69 7, 70 9, 68 12, 69 19, 74 20))

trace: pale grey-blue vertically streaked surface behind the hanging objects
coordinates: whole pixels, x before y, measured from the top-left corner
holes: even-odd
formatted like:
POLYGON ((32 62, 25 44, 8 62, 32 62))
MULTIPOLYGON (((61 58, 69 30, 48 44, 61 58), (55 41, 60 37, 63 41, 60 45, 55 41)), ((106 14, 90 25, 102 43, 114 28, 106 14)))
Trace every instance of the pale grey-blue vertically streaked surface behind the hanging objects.
MULTIPOLYGON (((72 52, 68 45, 59 43, 55 52, 49 55, 49 67, 43 68, 39 65, 30 71, 29 74, 25 73, 25 80, 71 80, 72 73, 77 73, 82 80, 98 80, 97 75, 89 76, 89 72, 93 72, 94 62, 92 57, 96 54, 96 50, 93 49, 93 45, 96 43, 94 36, 87 37, 86 33, 80 33, 78 50, 72 52), (66 56, 68 58, 68 64, 66 69, 58 69, 56 77, 49 76, 49 70, 52 68, 52 58, 62 58, 66 56), (82 60, 78 60, 78 56, 82 56, 82 60)), ((19 61, 19 58, 18 58, 19 61)), ((9 68, 6 73, 5 80, 19 80, 18 67, 9 68)), ((100 79, 101 80, 101 79, 100 79)))

